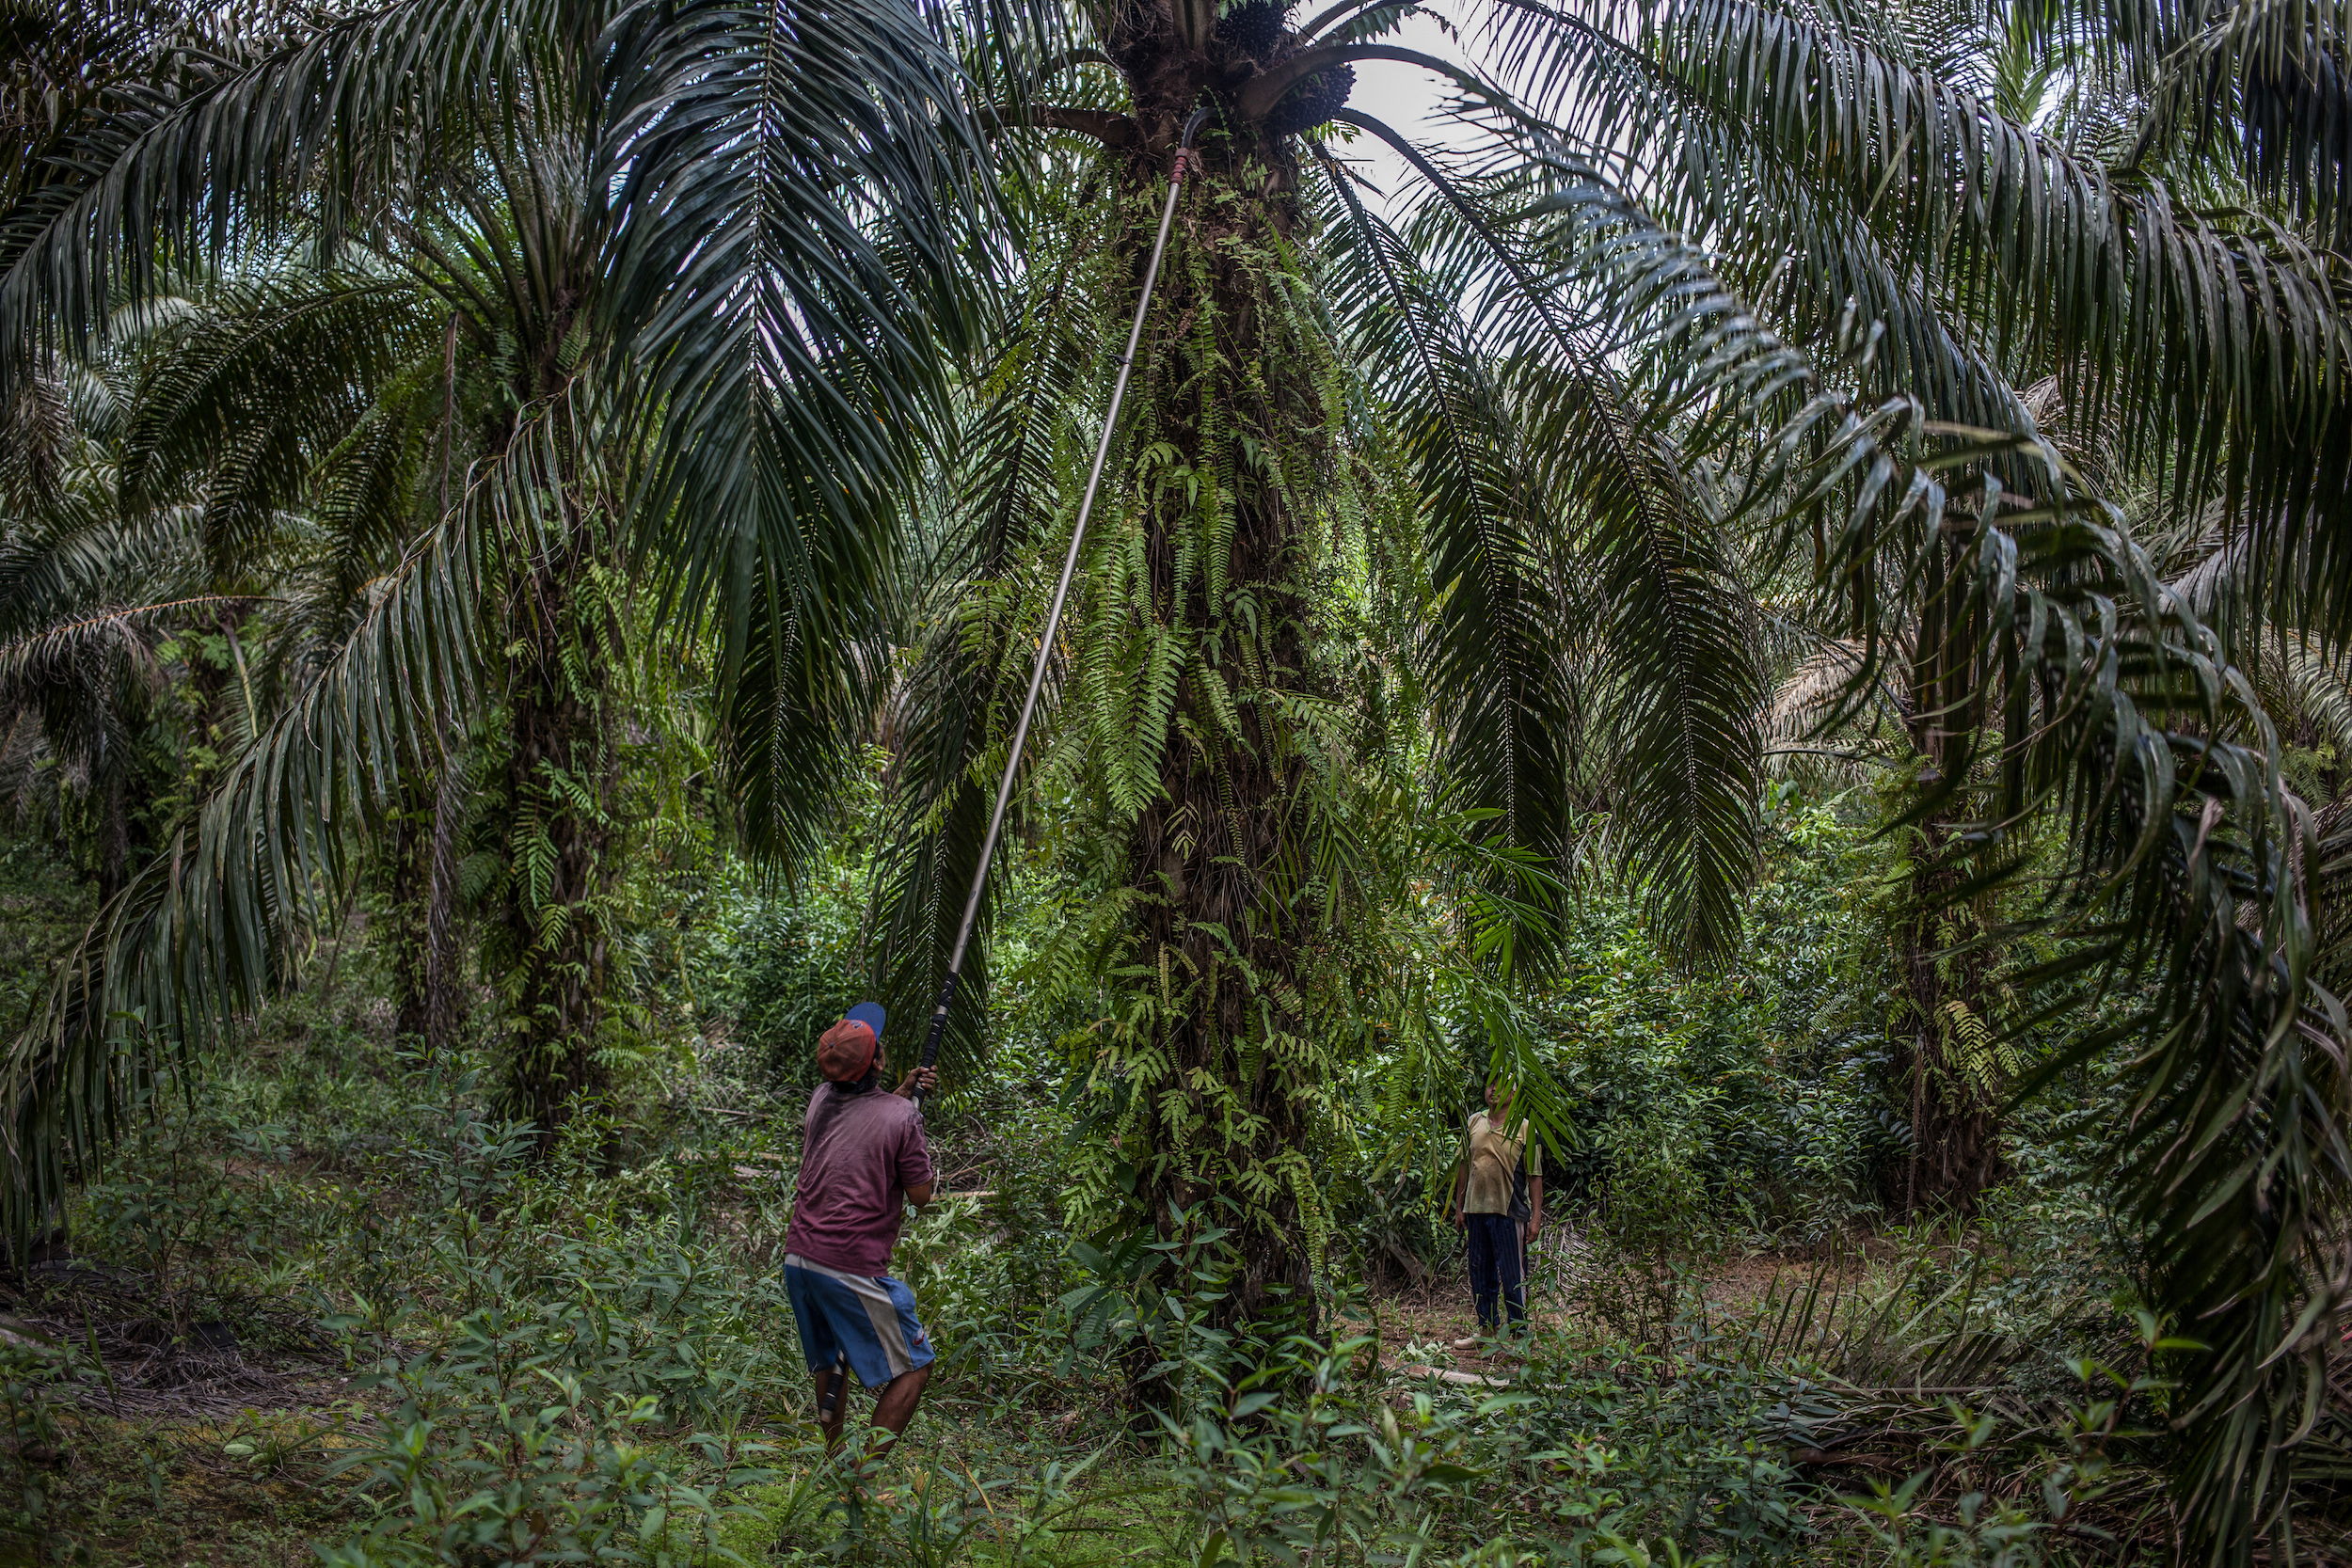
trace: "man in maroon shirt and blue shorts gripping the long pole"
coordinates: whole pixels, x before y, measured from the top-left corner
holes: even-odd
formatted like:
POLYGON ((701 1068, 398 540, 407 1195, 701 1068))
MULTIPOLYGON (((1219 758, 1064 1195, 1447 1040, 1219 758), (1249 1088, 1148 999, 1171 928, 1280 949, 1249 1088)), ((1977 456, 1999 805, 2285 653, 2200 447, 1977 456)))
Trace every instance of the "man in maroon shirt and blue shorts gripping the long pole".
POLYGON ((882 1009, 873 1001, 826 1030, 816 1067, 826 1081, 802 1124, 783 1288, 816 1373, 816 1420, 828 1450, 842 1441, 842 1368, 882 1389, 873 1425, 887 1436, 875 1436, 866 1455, 873 1460, 906 1432, 931 1378, 931 1338, 915 1319, 915 1293, 887 1269, 906 1206, 931 1201, 931 1150, 915 1093, 929 1091, 934 1074, 910 1072, 896 1093, 880 1086, 882 1009))

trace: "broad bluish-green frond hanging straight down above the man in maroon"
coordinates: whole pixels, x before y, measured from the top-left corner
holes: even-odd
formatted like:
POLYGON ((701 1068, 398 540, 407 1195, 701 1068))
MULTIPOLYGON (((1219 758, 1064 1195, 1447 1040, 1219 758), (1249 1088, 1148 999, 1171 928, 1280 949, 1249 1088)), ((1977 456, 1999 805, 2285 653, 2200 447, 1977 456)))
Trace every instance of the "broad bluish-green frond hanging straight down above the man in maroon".
POLYGON ((640 541, 717 632, 746 832, 790 851, 887 689, 896 512, 983 296, 985 150, 908 7, 633 9, 607 42, 602 315, 659 409, 640 541))

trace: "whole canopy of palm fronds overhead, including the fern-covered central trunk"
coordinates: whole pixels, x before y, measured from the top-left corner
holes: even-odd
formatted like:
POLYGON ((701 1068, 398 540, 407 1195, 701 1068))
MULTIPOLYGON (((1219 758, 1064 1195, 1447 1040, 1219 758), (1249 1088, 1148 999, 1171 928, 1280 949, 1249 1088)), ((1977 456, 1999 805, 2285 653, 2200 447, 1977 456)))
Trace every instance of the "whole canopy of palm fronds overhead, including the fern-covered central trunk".
POLYGON ((673 741, 786 877, 887 748, 868 964, 920 1013, 1044 656, 1016 825, 1091 865, 1075 1180, 1160 1244, 1214 1215, 1230 1312, 1279 1316, 1364 1041, 1437 1074, 1468 1034, 1564 1126, 1515 1009, 1583 867, 1717 961, 1773 766, 1860 748, 1915 832, 1915 1126, 1990 1138, 2018 1084, 1952 1041, 1985 952, 2046 954, 2044 1072, 2122 1063, 2194 1340, 2183 1509, 2244 1559, 2352 1168, 2336 816, 2281 741, 2352 637, 2345 9, 1479 0, 1477 71, 1383 42, 1411 9, 12 7, 0 675, 113 867, 9 1056, 19 1234, 369 856, 440 1027, 466 832, 506 1103, 590 1107, 661 682, 708 679, 673 741), (1470 141, 1350 106, 1371 59, 1454 80, 1470 141), (134 832, 191 621, 242 724, 134 832))

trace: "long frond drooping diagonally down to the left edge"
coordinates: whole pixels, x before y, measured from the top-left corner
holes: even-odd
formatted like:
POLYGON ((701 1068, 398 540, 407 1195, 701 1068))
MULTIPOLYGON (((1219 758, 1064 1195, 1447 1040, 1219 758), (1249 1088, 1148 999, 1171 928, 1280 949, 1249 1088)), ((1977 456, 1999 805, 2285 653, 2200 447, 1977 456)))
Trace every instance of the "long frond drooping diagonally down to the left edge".
POLYGON ((576 407, 529 409, 503 456, 374 595, 318 677, 245 748, 85 933, 47 1009, 14 1041, 16 1234, 64 1194, 66 1161, 99 1161, 155 1067, 214 1039, 299 973, 299 938, 355 872, 355 830, 402 769, 456 729, 480 684, 480 585, 492 550, 532 552, 555 527, 550 482, 576 407))

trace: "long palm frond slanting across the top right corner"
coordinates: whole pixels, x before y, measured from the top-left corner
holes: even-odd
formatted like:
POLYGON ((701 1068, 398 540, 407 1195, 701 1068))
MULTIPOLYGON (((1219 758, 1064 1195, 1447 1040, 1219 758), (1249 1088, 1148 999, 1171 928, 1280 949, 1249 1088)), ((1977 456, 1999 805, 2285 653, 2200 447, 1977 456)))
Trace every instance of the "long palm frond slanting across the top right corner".
MULTIPOLYGON (((1811 303, 1783 313, 1816 353, 1849 299, 1886 310, 1856 287, 1882 270, 1860 261, 1875 252, 1903 294, 1969 322, 1985 362, 2032 376, 2063 367, 2070 397, 2110 421, 2136 463, 2169 468, 2180 496, 2227 501, 2265 534, 2307 541, 2272 583, 2274 614, 2321 616, 2331 632, 2352 618, 2352 341, 2343 268, 2326 252, 2253 214, 2201 212, 2152 174, 2084 165, 1823 12, 1508 5, 1531 92, 1590 87, 1569 125, 1592 158, 1656 176, 1670 212, 1738 235, 1759 270, 1792 261, 1780 282, 1811 303), (1780 242, 1766 242, 1776 230, 1780 242)), ((1917 376, 1926 339, 1912 322, 1872 320, 1896 324, 1903 353, 1889 369, 1917 376)), ((1943 418, 2032 433, 1959 414, 1924 376, 1879 388, 1943 418)))

